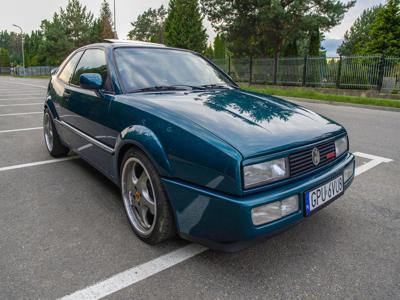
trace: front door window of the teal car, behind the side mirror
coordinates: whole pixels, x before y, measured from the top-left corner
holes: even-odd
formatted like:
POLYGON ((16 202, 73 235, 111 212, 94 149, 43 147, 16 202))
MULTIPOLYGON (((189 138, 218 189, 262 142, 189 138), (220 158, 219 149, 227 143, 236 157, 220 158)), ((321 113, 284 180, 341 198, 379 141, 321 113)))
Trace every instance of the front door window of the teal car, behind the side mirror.
POLYGON ((107 73, 106 55, 101 49, 88 49, 83 54, 71 83, 79 85, 79 76, 85 73, 98 73, 103 78, 103 90, 111 91, 109 76, 107 73))

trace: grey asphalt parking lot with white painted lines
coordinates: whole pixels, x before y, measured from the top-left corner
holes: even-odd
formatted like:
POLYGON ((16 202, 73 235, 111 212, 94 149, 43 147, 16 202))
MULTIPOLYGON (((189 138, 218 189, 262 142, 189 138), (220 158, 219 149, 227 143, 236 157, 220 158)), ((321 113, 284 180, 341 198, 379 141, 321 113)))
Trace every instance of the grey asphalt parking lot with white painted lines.
POLYGON ((302 103, 347 128, 352 187, 298 226, 221 253, 144 244, 110 181, 53 159, 46 86, 0 77, 0 298, 400 299, 400 112, 302 103))

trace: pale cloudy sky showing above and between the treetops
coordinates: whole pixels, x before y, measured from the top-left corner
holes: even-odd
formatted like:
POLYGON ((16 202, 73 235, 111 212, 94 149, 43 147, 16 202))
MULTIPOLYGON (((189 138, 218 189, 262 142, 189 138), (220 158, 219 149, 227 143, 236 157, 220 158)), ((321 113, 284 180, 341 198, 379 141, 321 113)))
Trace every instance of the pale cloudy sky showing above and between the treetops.
MULTIPOLYGON (((68 0, 0 0, 0 30, 16 30, 12 24, 17 24, 25 32, 39 29, 43 19, 50 19, 55 11, 60 7, 65 7, 68 0)), ((80 0, 81 3, 94 13, 99 14, 102 0, 80 0)), ((108 0, 111 7, 113 0, 108 0)), ((169 0, 115 0, 117 16, 117 32, 121 39, 125 39, 130 30, 130 23, 137 16, 148 8, 158 8, 161 5, 168 6, 169 0)), ((357 4, 346 14, 342 23, 330 32, 325 33, 326 39, 342 39, 344 33, 354 20, 367 8, 384 3, 385 0, 358 0, 357 4)), ((205 26, 210 40, 213 40, 215 33, 209 22, 205 21, 205 26)))

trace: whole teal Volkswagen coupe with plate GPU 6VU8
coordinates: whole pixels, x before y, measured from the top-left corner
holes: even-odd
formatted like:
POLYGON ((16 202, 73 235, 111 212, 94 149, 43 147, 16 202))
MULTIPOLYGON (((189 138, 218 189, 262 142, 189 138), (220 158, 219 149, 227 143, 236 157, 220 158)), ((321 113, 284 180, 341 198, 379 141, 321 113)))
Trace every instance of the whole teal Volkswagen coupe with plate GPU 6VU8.
POLYGON ((73 151, 121 188, 133 231, 237 250, 342 196, 354 178, 346 130, 241 90, 201 55, 108 40, 53 72, 50 154, 73 151))

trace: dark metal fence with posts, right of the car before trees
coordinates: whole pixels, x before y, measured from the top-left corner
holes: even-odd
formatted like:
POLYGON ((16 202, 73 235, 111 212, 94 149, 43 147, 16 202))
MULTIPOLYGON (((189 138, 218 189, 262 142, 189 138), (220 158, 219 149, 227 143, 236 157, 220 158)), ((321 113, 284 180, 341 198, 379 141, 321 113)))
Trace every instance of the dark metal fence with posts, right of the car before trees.
POLYGON ((214 59, 238 82, 351 89, 400 89, 400 58, 383 56, 214 59), (275 79, 276 78, 276 79, 275 79))

